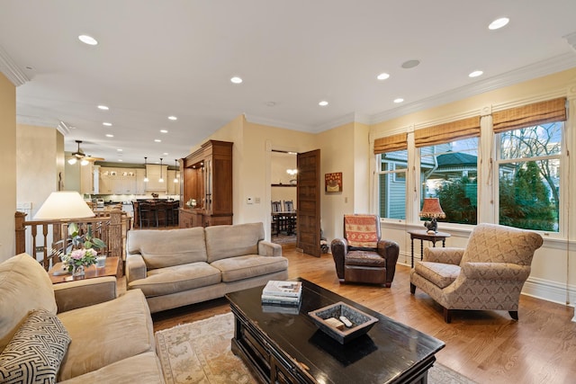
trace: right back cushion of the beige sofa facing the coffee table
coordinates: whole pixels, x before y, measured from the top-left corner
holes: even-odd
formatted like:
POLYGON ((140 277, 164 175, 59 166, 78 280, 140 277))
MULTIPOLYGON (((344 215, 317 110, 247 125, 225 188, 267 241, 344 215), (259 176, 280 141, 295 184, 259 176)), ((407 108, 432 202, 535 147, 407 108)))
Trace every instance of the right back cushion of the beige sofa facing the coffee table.
POLYGON ((262 223, 204 228, 208 263, 227 257, 257 255, 258 242, 264 240, 262 223))

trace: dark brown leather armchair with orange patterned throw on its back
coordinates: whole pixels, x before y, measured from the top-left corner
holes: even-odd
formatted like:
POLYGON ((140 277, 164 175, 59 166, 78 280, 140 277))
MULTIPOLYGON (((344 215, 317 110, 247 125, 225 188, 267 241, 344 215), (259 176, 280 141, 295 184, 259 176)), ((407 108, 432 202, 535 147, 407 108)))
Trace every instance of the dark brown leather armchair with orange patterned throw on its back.
POLYGON ((377 215, 344 215, 344 238, 332 240, 331 249, 340 282, 392 286, 400 247, 381 239, 377 215))

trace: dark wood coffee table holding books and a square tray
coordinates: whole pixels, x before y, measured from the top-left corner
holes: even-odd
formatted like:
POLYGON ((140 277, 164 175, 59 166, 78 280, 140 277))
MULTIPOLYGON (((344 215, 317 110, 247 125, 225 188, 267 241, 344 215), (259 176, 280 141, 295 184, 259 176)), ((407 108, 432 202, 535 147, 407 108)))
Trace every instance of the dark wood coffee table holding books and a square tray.
POLYGON ((427 383, 434 356, 445 344, 352 300, 302 281, 302 303, 263 308, 264 287, 229 293, 235 317, 232 352, 262 382, 427 383), (373 328, 347 344, 324 334, 308 312, 343 301, 378 318, 373 328))

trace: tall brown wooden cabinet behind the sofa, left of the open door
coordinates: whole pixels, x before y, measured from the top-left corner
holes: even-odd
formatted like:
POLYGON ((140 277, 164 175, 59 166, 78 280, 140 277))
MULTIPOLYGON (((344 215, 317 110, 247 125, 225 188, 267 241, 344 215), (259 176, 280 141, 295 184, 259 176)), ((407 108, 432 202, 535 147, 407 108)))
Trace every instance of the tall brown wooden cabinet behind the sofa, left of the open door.
POLYGON ((232 224, 232 145, 209 140, 181 159, 180 227, 232 224), (196 207, 185 204, 194 199, 196 207))

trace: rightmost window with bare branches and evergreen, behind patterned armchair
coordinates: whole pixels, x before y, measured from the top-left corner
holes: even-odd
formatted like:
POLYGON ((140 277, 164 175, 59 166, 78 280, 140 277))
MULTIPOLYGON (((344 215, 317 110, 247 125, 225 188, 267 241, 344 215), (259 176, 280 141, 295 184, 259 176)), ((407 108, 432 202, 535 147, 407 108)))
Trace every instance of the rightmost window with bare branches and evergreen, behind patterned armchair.
POLYGON ((499 222, 559 231, 563 122, 497 135, 499 222))

